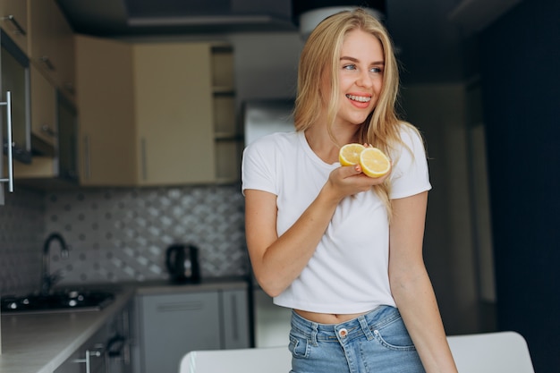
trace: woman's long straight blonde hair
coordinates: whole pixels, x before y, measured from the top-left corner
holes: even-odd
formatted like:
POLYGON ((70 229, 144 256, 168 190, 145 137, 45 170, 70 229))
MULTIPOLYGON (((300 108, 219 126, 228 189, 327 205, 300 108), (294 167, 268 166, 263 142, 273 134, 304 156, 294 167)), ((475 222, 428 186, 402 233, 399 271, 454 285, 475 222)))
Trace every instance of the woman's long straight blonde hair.
MULTIPOLYGON (((386 154, 391 154, 395 145, 403 144, 400 137, 401 124, 411 127, 414 131, 417 130, 412 124, 399 120, 395 113, 399 71, 393 42, 385 26, 361 8, 331 15, 311 32, 300 56, 298 92, 293 112, 295 128, 297 131, 305 131, 318 120, 323 108, 321 81, 323 74, 330 69, 331 92, 327 107, 327 129, 331 138, 335 140, 331 128, 338 107, 338 60, 344 36, 352 30, 362 30, 378 38, 385 61, 383 85, 378 103, 358 130, 358 141, 371 144, 386 154)), ((375 186, 374 191, 385 203, 390 217, 392 209, 389 200, 389 179, 387 178, 384 184, 375 186)))

